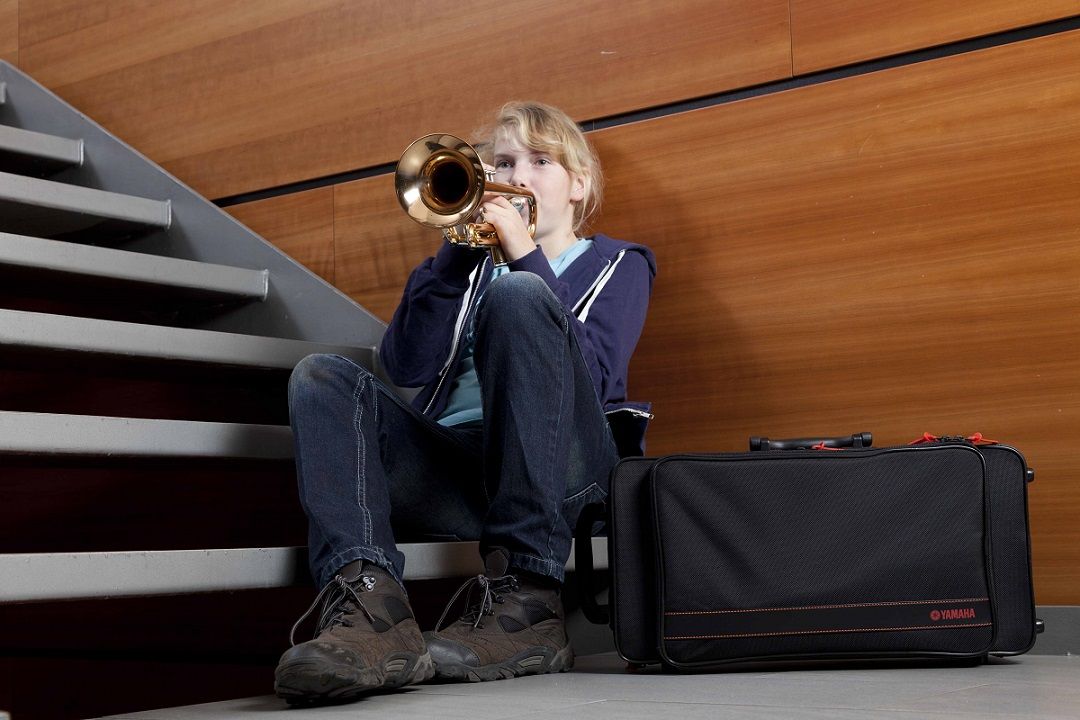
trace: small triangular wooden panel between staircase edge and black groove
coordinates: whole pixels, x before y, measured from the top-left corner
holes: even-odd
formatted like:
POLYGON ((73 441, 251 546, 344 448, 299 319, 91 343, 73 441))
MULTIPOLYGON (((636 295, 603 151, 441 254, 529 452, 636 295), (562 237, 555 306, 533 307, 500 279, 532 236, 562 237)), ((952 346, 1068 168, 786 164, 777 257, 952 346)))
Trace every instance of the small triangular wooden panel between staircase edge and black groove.
POLYGON ((334 283, 334 188, 258 200, 225 210, 334 283))

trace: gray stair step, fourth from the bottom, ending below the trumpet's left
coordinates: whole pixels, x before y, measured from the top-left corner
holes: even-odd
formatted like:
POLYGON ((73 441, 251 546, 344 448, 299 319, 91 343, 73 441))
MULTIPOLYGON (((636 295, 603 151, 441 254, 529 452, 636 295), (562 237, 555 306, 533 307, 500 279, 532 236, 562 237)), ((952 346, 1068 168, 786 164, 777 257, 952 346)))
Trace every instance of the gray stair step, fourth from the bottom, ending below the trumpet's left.
POLYGON ((268 272, 0 232, 0 266, 264 300, 268 272))

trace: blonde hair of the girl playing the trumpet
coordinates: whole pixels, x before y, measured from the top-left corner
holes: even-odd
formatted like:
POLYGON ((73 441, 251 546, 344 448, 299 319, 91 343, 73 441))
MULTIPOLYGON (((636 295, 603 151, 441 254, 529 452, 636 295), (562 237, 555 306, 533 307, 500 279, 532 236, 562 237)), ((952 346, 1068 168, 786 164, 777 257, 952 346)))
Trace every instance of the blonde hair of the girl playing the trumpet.
POLYGON ((568 114, 543 103, 512 100, 495 113, 495 122, 476 133, 476 149, 484 162, 492 161, 494 144, 500 135, 512 137, 530 150, 549 153, 568 173, 582 178, 581 202, 573 203, 573 231, 584 228, 600 207, 604 176, 596 150, 568 114))

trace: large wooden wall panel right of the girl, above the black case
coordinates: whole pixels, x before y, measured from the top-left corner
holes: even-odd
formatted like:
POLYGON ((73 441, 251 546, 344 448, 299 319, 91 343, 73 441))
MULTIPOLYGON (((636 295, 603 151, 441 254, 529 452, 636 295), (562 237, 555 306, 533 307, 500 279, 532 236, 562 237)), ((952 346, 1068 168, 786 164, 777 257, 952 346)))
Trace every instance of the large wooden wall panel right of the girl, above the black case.
POLYGON ((650 451, 1012 441, 1038 599, 1080 602, 1080 31, 594 139, 602 227, 659 258, 650 451))

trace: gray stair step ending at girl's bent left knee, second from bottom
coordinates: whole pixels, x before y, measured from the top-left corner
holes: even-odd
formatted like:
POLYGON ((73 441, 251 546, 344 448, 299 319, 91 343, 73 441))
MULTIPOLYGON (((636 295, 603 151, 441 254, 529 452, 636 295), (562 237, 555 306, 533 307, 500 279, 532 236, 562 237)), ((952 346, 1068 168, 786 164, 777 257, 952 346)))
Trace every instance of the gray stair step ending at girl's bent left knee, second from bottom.
POLYGON ((0 456, 287 460, 287 425, 0 411, 0 456))

